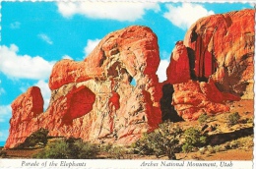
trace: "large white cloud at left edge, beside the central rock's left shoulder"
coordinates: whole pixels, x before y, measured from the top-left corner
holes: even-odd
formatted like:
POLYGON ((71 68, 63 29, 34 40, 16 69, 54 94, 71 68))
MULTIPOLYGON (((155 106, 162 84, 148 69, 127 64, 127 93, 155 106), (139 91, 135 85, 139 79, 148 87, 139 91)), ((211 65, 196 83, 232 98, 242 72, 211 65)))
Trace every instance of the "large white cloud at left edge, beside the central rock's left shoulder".
POLYGON ((54 61, 48 62, 40 56, 18 55, 15 44, 0 46, 0 72, 13 79, 46 80, 54 61))

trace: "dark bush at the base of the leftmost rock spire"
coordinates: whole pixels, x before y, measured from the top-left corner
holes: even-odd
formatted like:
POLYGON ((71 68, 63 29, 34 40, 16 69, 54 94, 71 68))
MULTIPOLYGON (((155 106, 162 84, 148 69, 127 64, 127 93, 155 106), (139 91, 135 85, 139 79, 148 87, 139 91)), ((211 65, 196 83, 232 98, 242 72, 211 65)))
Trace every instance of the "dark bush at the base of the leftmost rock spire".
POLYGON ((18 146, 18 148, 31 147, 35 145, 45 146, 47 143, 48 133, 49 131, 46 129, 39 129, 38 131, 33 132, 30 137, 18 146))

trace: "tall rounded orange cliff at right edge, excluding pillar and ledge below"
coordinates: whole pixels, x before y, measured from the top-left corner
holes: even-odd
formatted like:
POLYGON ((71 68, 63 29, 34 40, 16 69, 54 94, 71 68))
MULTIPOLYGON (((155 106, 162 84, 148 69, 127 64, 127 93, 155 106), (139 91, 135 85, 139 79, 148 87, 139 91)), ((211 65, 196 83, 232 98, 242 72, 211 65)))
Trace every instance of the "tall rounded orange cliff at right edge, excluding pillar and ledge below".
POLYGON ((195 52, 199 80, 211 76, 222 91, 253 98, 254 13, 213 15, 189 28, 184 44, 195 52))

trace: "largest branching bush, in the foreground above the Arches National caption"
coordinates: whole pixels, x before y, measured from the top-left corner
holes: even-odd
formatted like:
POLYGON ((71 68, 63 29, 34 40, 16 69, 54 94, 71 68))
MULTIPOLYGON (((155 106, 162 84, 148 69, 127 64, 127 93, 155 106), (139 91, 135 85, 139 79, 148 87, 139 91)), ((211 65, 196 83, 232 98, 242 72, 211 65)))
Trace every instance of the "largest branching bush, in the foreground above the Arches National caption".
POLYGON ((181 129, 171 122, 160 124, 159 129, 136 141, 135 151, 140 154, 155 154, 158 158, 160 155, 167 155, 169 159, 176 159, 175 149, 179 144, 181 129))

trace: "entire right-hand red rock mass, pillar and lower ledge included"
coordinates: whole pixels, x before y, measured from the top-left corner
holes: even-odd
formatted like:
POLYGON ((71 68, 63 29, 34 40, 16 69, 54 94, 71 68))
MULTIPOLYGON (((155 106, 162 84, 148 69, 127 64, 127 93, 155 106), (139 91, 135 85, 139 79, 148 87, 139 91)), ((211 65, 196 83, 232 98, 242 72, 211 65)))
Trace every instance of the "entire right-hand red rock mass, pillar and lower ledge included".
POLYGON ((226 100, 253 99, 252 23, 254 10, 213 15, 176 43, 165 84, 173 84, 171 104, 184 120, 228 111, 226 100))

